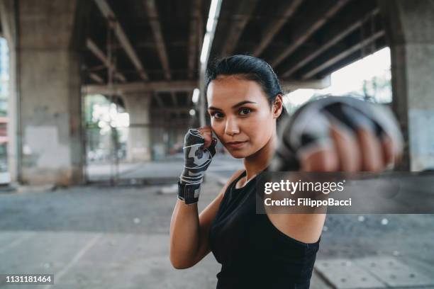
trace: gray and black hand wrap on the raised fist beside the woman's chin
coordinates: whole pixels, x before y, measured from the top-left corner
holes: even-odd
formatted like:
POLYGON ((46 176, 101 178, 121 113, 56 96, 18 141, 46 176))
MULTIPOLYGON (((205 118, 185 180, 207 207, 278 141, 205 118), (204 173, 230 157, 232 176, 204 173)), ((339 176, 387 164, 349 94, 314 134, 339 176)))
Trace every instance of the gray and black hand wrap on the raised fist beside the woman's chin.
POLYGON ((184 137, 184 170, 179 177, 178 198, 186 204, 197 203, 206 169, 216 154, 216 139, 204 149, 205 139, 198 129, 190 129, 184 137))

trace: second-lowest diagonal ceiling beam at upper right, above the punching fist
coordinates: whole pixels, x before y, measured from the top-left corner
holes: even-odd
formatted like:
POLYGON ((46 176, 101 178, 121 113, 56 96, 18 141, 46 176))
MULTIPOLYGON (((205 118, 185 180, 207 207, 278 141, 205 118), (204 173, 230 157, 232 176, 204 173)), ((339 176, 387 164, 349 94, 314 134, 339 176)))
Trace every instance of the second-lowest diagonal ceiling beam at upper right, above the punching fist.
POLYGON ((291 64, 287 65, 289 69, 286 69, 282 73, 282 77, 291 77, 294 72, 303 67, 308 62, 311 62, 315 57, 321 55, 321 53, 328 50, 328 48, 337 44, 340 40, 343 40, 347 35, 350 35, 357 28, 360 28, 365 20, 370 16, 375 16, 379 13, 379 8, 372 8, 371 11, 365 13, 362 17, 359 18, 358 21, 354 21, 354 18, 347 17, 343 22, 336 22, 333 27, 330 28, 330 35, 328 35, 327 40, 320 47, 311 47, 303 50, 302 56, 292 61, 291 64), (344 28, 343 30, 339 30, 339 28, 344 28))

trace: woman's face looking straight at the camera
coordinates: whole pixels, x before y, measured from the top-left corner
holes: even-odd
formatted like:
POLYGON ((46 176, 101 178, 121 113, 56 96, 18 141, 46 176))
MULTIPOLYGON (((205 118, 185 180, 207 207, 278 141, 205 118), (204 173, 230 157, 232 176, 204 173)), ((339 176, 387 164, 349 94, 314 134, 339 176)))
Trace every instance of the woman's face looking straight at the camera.
POLYGON ((280 110, 274 112, 256 81, 218 77, 206 95, 211 128, 233 157, 255 154, 276 132, 280 110))

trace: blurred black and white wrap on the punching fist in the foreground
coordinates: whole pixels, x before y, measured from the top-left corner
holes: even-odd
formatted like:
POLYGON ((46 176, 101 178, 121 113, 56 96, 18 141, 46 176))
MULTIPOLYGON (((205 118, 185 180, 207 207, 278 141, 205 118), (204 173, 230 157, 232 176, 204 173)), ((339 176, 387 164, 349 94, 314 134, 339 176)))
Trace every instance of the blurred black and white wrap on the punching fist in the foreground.
POLYGON ((298 171, 302 154, 330 145, 330 126, 356 133, 369 128, 380 140, 390 137, 401 147, 403 137, 391 111, 350 96, 329 96, 301 106, 279 129, 279 144, 269 171, 298 171))

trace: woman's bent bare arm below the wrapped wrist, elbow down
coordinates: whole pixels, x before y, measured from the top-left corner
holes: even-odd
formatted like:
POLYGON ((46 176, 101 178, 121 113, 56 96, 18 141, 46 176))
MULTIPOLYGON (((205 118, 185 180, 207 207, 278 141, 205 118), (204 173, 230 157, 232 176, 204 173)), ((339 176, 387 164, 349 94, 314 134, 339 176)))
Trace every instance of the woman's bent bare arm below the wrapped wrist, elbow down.
POLYGON ((208 244, 208 232, 216 217, 223 195, 243 171, 236 171, 218 196, 198 214, 197 203, 186 205, 177 200, 170 222, 170 261, 177 269, 194 266, 211 250, 208 244))

